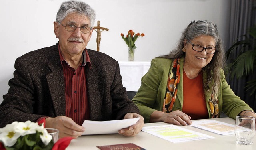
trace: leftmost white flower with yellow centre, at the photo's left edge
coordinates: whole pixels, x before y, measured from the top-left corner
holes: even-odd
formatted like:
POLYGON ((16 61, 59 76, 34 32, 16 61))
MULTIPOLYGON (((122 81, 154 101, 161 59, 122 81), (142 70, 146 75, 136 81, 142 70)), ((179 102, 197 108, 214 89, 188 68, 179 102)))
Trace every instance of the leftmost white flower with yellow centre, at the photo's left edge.
POLYGON ((20 133, 15 130, 17 126, 18 122, 15 121, 12 124, 7 124, 0 130, 0 141, 5 146, 11 147, 17 142, 17 139, 20 137, 20 133))

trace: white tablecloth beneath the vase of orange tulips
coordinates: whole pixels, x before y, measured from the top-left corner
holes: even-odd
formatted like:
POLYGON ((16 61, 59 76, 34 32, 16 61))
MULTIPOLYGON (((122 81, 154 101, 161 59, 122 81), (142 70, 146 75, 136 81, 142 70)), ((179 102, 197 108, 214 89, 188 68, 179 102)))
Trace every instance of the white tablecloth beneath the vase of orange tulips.
POLYGON ((137 92, 141 77, 148 72, 150 61, 119 61, 123 86, 127 91, 137 92))

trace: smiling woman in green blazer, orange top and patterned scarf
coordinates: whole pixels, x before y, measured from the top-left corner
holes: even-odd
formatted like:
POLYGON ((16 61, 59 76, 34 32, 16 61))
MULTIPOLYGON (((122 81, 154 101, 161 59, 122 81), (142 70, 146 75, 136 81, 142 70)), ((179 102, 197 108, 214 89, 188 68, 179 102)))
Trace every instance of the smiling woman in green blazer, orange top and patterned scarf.
POLYGON ((156 57, 132 101, 144 122, 192 124, 191 120, 254 116, 225 80, 224 48, 213 22, 193 21, 169 55, 156 57))

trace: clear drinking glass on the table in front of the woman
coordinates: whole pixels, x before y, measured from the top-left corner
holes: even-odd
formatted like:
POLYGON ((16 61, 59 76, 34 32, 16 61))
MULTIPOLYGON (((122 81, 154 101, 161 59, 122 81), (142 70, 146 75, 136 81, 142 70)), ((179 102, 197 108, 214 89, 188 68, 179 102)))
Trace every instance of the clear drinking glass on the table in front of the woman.
POLYGON ((236 144, 250 145, 255 135, 255 118, 252 116, 236 116, 236 144))

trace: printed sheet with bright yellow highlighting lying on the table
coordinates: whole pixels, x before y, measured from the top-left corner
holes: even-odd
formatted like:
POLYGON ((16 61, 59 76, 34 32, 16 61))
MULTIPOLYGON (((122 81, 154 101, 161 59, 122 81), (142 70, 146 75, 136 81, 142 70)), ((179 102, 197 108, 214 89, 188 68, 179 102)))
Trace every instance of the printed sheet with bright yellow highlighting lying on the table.
POLYGON ((214 138, 212 136, 181 128, 172 124, 163 126, 147 126, 143 127, 142 131, 173 143, 214 138))

